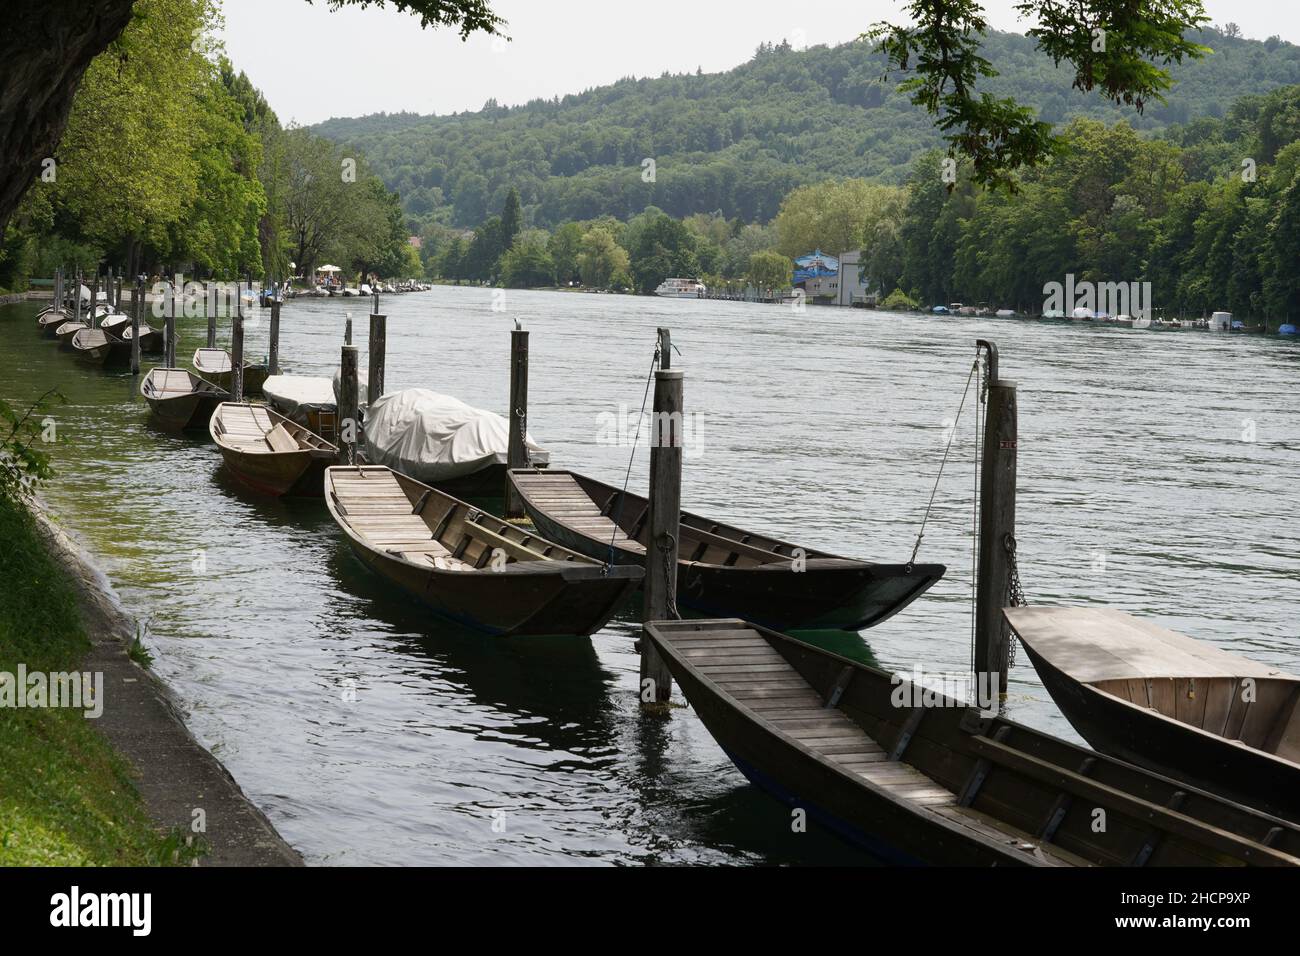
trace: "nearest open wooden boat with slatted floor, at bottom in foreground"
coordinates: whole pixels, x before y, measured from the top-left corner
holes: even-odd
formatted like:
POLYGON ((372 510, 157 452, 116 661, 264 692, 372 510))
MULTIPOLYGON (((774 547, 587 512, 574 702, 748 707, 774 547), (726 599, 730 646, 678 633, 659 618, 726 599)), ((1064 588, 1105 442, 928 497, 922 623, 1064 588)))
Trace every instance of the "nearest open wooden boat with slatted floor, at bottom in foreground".
POLYGON ((646 635, 745 777, 884 860, 1300 866, 1286 821, 775 631, 673 620, 646 635))

